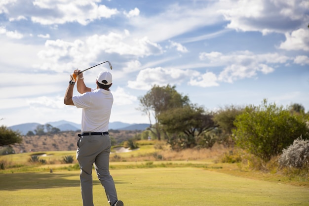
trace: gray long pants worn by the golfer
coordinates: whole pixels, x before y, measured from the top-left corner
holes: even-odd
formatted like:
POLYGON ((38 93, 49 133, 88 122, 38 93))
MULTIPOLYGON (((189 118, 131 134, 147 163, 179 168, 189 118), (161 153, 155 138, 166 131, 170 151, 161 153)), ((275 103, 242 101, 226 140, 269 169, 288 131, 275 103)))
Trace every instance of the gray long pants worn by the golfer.
POLYGON ((92 195, 92 165, 98 175, 109 203, 117 200, 113 177, 110 175, 109 162, 111 138, 107 135, 81 136, 77 142, 76 158, 80 167, 80 188, 83 206, 94 206, 92 195))

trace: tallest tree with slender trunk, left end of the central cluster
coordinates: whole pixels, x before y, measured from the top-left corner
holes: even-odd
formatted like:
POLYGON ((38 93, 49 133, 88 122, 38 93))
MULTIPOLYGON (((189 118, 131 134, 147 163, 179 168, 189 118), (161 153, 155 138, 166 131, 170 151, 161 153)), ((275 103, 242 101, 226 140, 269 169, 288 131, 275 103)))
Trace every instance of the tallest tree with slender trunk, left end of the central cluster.
POLYGON ((158 121, 158 116, 165 111, 172 108, 183 107, 188 105, 190 100, 188 96, 183 96, 179 94, 175 86, 157 86, 154 85, 153 88, 148 91, 145 96, 139 98, 140 108, 144 114, 149 118, 150 131, 161 140, 160 124, 158 121), (152 119, 154 118, 154 124, 152 124, 152 119))

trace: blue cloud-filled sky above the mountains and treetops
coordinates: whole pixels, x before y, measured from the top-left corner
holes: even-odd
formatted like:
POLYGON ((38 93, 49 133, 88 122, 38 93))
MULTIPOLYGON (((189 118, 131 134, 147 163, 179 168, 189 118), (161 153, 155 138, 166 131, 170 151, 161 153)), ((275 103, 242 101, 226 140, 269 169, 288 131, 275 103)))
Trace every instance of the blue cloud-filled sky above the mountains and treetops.
POLYGON ((205 111, 308 111, 308 25, 308 0, 1 0, 0 124, 80 124, 70 74, 104 61, 84 82, 112 73, 110 122, 149 123, 139 98, 167 84, 205 111))

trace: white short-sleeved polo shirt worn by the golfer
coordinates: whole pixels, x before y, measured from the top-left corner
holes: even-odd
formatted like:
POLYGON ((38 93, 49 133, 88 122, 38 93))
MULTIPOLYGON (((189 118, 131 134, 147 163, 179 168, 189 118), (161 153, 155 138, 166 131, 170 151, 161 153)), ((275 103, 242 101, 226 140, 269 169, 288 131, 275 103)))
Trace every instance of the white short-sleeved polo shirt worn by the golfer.
POLYGON ((112 105, 114 102, 111 90, 91 89, 72 100, 77 108, 82 108, 81 132, 105 132, 109 130, 112 105))

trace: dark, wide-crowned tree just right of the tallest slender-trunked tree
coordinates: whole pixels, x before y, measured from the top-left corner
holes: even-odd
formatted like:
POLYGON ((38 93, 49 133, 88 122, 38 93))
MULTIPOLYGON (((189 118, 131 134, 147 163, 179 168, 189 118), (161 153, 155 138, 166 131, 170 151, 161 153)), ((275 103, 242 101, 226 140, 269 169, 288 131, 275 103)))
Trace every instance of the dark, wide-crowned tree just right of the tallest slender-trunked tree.
POLYGON ((202 107, 186 105, 174 108, 158 116, 164 130, 169 133, 168 143, 173 149, 193 148, 198 138, 216 127, 211 114, 202 107))

